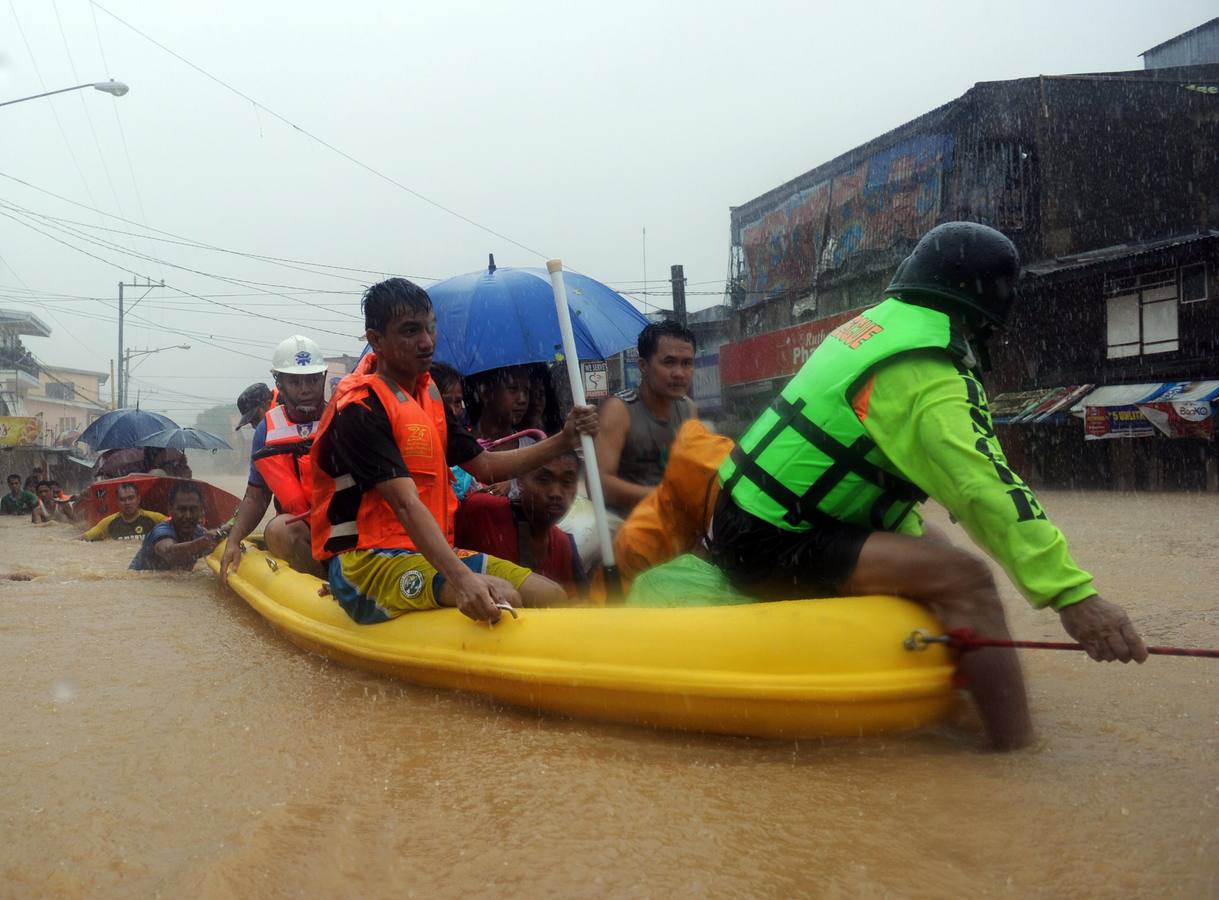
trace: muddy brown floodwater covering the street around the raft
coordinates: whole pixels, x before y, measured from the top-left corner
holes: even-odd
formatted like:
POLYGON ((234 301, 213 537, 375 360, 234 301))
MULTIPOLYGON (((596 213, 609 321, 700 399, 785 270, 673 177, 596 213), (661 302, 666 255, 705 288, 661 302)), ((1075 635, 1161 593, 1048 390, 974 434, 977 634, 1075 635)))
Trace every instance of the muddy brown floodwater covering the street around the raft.
MULTIPOLYGON (((1219 646, 1219 496, 1042 500, 1148 643, 1219 646)), ((1026 651, 1039 741, 1011 755, 968 711, 659 733, 343 668, 202 565, 73 537, 0 520, 4 896, 1219 896, 1217 661, 1026 651)))

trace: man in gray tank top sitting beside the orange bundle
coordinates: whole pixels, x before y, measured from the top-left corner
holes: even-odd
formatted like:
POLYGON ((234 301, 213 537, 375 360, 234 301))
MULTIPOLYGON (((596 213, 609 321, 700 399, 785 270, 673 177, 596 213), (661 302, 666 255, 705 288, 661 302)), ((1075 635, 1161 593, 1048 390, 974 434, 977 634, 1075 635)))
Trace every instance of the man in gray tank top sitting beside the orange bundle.
POLYGON ((636 390, 624 390, 601 405, 597 467, 606 504, 628 516, 661 483, 678 428, 698 415, 688 394, 694 383, 694 333, 666 320, 639 334, 636 390))

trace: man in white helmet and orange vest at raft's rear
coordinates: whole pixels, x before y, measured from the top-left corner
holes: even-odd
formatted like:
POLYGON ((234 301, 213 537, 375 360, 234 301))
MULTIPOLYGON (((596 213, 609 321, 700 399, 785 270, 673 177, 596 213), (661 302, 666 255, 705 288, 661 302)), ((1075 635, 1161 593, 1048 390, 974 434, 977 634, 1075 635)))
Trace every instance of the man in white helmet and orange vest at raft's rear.
MULTIPOLYGON (((272 500, 278 515, 263 532, 267 550, 300 572, 321 574, 310 548, 308 521, 301 516, 313 501, 308 451, 324 404, 325 372, 322 348, 300 334, 282 340, 271 357, 279 404, 266 406, 254 429, 249 484, 221 560, 222 580, 236 568, 241 541, 257 528, 272 500)), ((269 404, 269 390, 262 400, 269 404)))

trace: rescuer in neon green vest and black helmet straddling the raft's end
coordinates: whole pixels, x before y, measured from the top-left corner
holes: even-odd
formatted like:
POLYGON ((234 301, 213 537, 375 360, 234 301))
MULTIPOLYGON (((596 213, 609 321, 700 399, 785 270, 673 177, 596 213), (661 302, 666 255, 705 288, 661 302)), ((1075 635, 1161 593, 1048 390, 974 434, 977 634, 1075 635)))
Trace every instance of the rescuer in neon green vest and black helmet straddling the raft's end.
MULTIPOLYGON (((976 368, 1009 317, 1019 274, 1000 232, 939 226, 886 299, 822 343, 719 471, 712 559, 737 588, 775 600, 898 594, 946 628, 1009 638, 985 561, 924 534, 919 505, 931 496, 1093 660, 1147 657, 995 437, 976 368)), ((1026 744, 1015 652, 969 652, 961 670, 992 745, 1026 744)))

